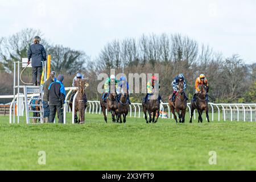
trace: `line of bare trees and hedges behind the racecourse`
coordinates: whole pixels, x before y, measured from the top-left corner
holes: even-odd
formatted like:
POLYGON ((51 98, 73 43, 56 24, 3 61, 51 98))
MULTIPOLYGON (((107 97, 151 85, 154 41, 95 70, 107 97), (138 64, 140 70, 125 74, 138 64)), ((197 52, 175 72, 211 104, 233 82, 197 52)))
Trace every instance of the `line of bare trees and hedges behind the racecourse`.
MULTIPOLYGON (((42 32, 33 29, 22 30, 7 38, 0 38, 0 76, 12 77, 13 61, 27 57, 27 49, 35 35, 42 32)), ((214 102, 256 102, 256 64, 245 64, 239 55, 224 57, 209 46, 180 34, 142 35, 139 39, 126 38, 106 43, 94 59, 85 52, 61 45, 54 45, 43 39, 42 44, 52 56, 51 67, 56 73, 64 73, 64 84, 71 85, 73 76, 82 72, 90 86, 89 100, 99 100, 97 80, 99 73, 159 73, 160 94, 167 102, 172 92, 171 82, 179 73, 184 73, 188 84, 189 98, 195 92, 195 80, 204 73, 209 81, 209 94, 214 102)), ((30 80, 31 71, 25 77, 30 80)), ((0 94, 11 94, 12 83, 1 79, 0 94), (10 89, 9 89, 10 88, 10 89), (10 92, 10 93, 9 93, 10 92)), ((143 94, 131 94, 131 101, 141 102, 143 94)))

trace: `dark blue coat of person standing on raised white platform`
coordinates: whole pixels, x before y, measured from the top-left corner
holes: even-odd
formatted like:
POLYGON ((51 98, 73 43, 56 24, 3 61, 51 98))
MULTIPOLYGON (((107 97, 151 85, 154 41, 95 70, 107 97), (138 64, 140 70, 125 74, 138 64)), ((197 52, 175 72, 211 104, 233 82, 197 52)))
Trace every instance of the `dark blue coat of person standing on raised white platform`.
POLYGON ((37 43, 32 44, 27 51, 27 59, 31 60, 32 67, 42 67, 41 61, 46 61, 46 50, 44 47, 37 43), (31 60, 32 58, 32 60, 31 60))

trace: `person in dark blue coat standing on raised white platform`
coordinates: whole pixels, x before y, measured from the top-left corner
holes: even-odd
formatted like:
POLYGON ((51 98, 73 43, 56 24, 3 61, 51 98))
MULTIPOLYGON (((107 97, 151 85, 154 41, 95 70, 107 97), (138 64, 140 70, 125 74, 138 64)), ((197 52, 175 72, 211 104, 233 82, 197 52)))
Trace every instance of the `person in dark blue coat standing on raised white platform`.
POLYGON ((46 61, 46 49, 40 44, 41 38, 35 36, 34 44, 27 51, 27 64, 32 61, 32 82, 34 86, 39 86, 41 82, 43 65, 42 61, 46 61), (31 60, 32 59, 32 60, 31 60))

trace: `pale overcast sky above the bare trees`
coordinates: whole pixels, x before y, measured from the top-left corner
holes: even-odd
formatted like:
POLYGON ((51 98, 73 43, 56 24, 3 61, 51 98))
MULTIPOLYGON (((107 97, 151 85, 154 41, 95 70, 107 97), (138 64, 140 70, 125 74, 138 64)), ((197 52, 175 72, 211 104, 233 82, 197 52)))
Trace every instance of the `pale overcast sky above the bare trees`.
POLYGON ((166 32, 256 62, 255 0, 0 0, 0 17, 0 36, 36 28, 92 58, 111 40, 166 32))

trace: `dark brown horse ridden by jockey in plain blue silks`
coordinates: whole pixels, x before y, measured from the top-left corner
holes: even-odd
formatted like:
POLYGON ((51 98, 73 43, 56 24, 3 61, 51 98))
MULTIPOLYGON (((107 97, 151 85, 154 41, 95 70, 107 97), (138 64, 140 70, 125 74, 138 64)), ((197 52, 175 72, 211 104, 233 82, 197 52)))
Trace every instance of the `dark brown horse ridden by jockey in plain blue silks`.
POLYGON ((126 116, 129 112, 129 101, 128 101, 128 93, 121 92, 121 97, 118 98, 118 103, 117 103, 117 122, 122 123, 122 115, 123 115, 123 123, 126 122, 126 116))

